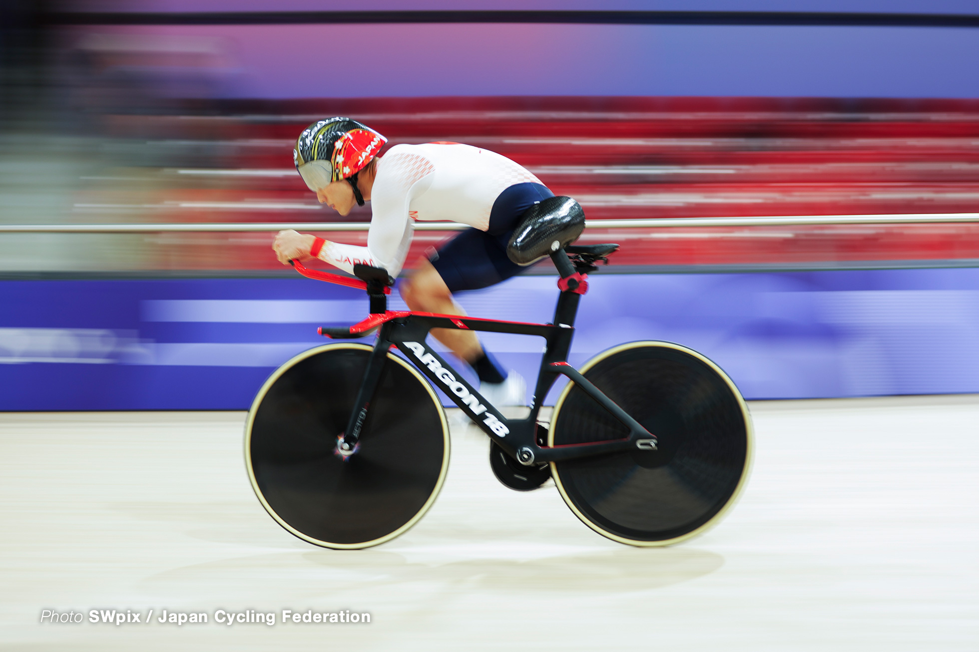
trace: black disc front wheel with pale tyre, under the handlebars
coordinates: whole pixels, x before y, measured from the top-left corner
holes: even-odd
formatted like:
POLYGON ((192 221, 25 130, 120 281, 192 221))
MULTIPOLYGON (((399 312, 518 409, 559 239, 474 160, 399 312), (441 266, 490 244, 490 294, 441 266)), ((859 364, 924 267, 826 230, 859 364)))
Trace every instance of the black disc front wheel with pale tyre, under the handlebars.
POLYGON ((435 502, 448 469, 439 398, 392 353, 356 451, 337 452, 370 354, 354 343, 307 350, 272 374, 249 412, 245 459, 258 499, 316 545, 364 548, 402 534, 435 502))

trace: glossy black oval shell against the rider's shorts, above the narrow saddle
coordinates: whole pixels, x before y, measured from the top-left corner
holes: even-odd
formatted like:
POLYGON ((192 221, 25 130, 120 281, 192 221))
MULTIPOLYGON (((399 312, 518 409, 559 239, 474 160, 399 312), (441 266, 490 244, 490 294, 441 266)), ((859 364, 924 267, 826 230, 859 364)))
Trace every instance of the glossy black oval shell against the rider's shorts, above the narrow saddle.
POLYGON ((506 246, 506 256, 529 265, 578 240, 584 229, 582 205, 570 197, 548 197, 524 211, 506 246))

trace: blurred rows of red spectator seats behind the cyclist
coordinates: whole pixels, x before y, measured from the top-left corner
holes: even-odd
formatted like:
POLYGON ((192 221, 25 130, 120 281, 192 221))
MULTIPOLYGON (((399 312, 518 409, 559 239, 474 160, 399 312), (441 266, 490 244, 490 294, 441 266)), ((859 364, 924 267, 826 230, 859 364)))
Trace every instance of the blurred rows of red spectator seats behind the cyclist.
MULTIPOLYGON (((316 116, 350 115, 401 142, 451 140, 531 167, 589 219, 723 215, 971 212, 979 209, 979 102, 752 98, 427 98, 239 103, 225 115, 114 116, 112 130, 167 147, 174 167, 153 199, 92 186, 79 204, 142 204, 153 221, 328 221, 299 175, 180 173, 291 170, 292 139, 316 116), (182 143, 182 145, 181 145, 182 143), (202 155, 202 152, 206 154, 202 155), (235 208, 240 203, 241 209, 235 208)), ((355 210, 345 220, 369 220, 355 210)), ((419 233, 416 255, 451 234, 419 233)), ((210 239, 217 236, 209 236, 210 239)), ((222 236, 223 237, 223 236, 222 236)), ((251 236, 250 236, 251 237, 251 236)), ((366 234, 333 234, 361 242, 366 234)), ((165 256, 178 268, 197 260, 165 256)), ((262 236, 218 264, 271 269, 262 236), (254 244, 250 244, 254 243, 254 244)), ((591 226, 588 242, 623 245, 628 265, 777 265, 979 258, 979 226, 620 229, 591 226)), ((197 240, 195 240, 197 239, 197 240)))

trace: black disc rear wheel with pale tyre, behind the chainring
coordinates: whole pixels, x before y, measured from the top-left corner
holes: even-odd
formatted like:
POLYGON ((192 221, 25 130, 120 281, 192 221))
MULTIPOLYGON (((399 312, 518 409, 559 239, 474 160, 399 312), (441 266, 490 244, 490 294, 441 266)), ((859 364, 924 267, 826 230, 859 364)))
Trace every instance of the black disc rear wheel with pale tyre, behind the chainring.
MULTIPOLYGON (((658 439, 634 450, 551 464, 572 511, 595 532, 667 545, 717 523, 751 463, 748 408, 723 371, 694 350, 635 342, 599 354, 582 373, 658 439)), ((550 445, 618 440, 627 428, 569 384, 554 408, 550 445)))

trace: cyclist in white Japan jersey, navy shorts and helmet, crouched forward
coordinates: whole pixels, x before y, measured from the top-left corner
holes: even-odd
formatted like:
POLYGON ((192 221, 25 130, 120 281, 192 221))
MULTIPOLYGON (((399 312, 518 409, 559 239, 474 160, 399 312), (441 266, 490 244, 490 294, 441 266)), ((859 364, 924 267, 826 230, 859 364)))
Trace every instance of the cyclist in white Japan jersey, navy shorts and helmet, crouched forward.
MULTIPOLYGON (((399 290, 412 310, 465 315, 452 294, 478 290, 525 269, 506 255, 525 210, 553 197, 530 171, 489 150, 460 143, 396 145, 348 117, 310 124, 293 159, 320 204, 347 215, 354 203, 371 202, 367 246, 330 242, 294 230, 280 231, 273 249, 283 264, 316 257, 348 272, 356 263, 384 267, 396 277, 416 220, 452 220, 470 228, 420 257, 399 290)), ((465 360, 480 379, 480 393, 497 405, 522 405, 526 383, 504 370, 467 330, 434 329, 432 335, 465 360)))

